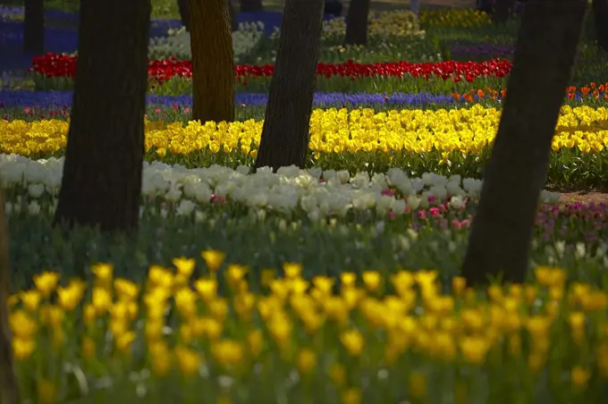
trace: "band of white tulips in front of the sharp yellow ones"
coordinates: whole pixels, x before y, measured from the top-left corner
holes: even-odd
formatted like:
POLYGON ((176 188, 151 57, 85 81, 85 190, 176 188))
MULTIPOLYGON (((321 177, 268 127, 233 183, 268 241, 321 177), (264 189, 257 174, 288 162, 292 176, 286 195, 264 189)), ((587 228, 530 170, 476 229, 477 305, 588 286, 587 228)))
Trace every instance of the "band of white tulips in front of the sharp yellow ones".
MULTIPOLYGON (((59 193, 63 158, 30 160, 17 155, 0 155, 0 181, 3 189, 27 189, 36 200, 59 193)), ((478 198, 482 181, 460 175, 446 177, 433 173, 410 178, 401 169, 388 173, 361 172, 350 176, 347 171, 300 170, 283 167, 277 173, 269 168, 250 173, 249 166, 236 170, 212 165, 188 169, 182 165, 160 162, 144 163, 141 192, 145 200, 161 198, 175 206, 178 214, 190 214, 197 206, 219 200, 250 208, 279 212, 303 210, 309 217, 344 216, 350 210, 375 210, 383 215, 392 211, 401 215, 407 210, 429 207, 429 197, 460 209, 466 198, 478 198), (388 189, 398 190, 404 198, 395 197, 388 189)), ((560 194, 543 191, 541 199, 556 203, 560 194)))

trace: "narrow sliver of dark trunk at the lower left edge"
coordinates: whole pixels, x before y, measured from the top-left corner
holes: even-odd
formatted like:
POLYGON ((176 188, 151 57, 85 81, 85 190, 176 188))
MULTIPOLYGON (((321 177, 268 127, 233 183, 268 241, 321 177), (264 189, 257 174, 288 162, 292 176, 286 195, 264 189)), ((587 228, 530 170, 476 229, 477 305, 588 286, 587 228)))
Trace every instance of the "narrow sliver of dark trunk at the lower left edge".
POLYGON ((0 196, 0 402, 19 404, 19 384, 13 367, 12 332, 6 302, 10 293, 11 262, 8 230, 4 221, 4 200, 0 196))

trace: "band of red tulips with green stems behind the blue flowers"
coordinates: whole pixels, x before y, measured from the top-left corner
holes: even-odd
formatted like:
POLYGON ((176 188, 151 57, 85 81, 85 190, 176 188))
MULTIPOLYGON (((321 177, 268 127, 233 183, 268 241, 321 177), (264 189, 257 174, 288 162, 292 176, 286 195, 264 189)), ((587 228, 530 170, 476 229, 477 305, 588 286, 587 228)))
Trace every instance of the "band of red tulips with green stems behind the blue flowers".
MULTIPOLYGON (((595 63, 596 64, 596 63, 595 63)), ((592 80, 603 82, 608 77, 596 72, 595 64, 578 66, 573 83, 584 87, 592 80), (589 77, 591 79, 589 79, 589 77)), ((75 55, 47 54, 34 57, 33 80, 38 90, 73 88, 76 72, 75 55)), ((274 65, 242 64, 234 67, 237 92, 266 93, 274 65)), ((317 90, 344 93, 418 93, 450 95, 471 90, 506 88, 511 62, 493 59, 485 62, 387 62, 387 63, 318 63, 317 90)), ((191 93, 191 63, 175 58, 148 62, 148 90, 156 95, 191 93)))

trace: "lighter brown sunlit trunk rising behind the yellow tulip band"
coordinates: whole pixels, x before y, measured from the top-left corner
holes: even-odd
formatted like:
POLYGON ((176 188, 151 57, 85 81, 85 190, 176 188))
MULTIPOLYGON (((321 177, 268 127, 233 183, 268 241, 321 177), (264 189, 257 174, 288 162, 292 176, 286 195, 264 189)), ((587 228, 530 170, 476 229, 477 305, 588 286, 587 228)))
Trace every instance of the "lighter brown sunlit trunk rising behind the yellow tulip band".
POLYGON ((192 120, 232 122, 234 53, 228 4, 225 0, 191 0, 190 18, 192 120))

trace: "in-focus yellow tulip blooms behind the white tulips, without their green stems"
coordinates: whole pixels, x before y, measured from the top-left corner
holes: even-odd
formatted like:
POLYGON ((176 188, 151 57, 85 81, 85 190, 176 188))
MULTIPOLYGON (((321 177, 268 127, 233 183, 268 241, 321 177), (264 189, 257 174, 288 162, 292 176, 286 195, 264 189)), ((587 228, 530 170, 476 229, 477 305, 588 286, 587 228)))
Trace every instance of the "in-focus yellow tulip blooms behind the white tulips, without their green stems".
MULTIPOLYGON (((458 151, 477 154, 492 144, 500 111, 475 105, 470 109, 402 110, 375 113, 345 108, 313 112, 310 148, 318 153, 458 151)), ((583 153, 608 147, 608 109, 563 106, 553 138, 553 150, 576 148, 583 153)), ((0 152, 22 156, 52 153, 66 145, 68 122, 0 121, 0 152)), ((146 150, 158 156, 211 153, 251 154, 259 146, 263 121, 147 122, 146 150)))

